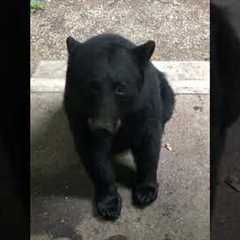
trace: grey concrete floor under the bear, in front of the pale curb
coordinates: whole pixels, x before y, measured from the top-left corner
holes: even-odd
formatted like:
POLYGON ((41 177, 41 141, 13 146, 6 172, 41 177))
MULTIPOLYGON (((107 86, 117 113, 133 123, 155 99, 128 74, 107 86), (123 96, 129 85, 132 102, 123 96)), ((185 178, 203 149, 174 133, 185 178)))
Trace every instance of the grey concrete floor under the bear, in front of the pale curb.
POLYGON ((144 210, 132 205, 132 157, 118 156, 123 209, 111 223, 95 216, 92 184, 74 150, 62 92, 32 92, 31 239, 208 240, 209 95, 179 93, 176 100, 163 139, 171 148, 162 148, 158 199, 144 210))

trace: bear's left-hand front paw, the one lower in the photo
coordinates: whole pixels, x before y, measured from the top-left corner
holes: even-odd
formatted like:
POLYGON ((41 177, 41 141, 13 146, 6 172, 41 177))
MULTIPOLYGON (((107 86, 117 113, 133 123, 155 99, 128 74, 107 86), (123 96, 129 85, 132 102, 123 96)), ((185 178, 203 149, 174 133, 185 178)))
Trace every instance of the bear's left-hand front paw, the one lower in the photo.
POLYGON ((105 220, 119 218, 122 208, 121 197, 118 192, 103 196, 96 200, 97 213, 105 220))

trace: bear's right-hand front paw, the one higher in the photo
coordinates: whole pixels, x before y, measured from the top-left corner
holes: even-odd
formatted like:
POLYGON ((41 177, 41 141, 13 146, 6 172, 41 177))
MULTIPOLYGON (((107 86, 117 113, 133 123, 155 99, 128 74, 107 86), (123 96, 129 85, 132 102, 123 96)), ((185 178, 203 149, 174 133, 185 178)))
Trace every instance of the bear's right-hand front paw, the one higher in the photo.
POLYGON ((140 185, 133 189, 133 204, 138 207, 146 207, 157 199, 158 184, 140 185))

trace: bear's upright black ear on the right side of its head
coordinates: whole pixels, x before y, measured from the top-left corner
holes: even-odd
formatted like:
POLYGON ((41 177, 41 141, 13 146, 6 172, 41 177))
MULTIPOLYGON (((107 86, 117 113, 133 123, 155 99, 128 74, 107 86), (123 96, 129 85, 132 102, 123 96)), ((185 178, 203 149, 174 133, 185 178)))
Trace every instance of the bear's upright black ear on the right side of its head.
POLYGON ((147 63, 150 60, 155 49, 155 42, 152 40, 139 45, 133 49, 133 54, 137 57, 137 60, 141 64, 147 63))

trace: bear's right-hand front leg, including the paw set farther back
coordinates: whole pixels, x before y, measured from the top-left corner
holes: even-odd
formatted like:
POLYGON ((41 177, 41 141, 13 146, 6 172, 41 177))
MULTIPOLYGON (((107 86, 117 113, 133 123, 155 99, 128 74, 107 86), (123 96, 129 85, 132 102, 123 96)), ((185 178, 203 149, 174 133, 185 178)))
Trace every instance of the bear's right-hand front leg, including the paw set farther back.
POLYGON ((157 168, 160 156, 163 127, 159 120, 149 120, 138 132, 138 140, 132 146, 137 167, 136 184, 133 188, 133 203, 145 207, 158 195, 157 168))

